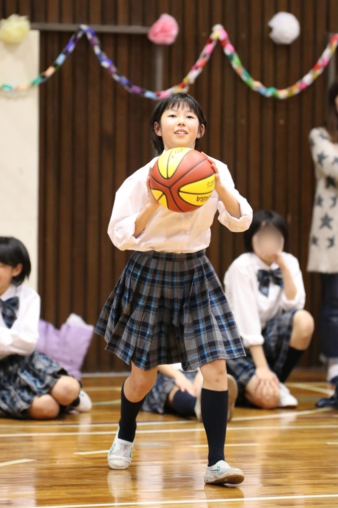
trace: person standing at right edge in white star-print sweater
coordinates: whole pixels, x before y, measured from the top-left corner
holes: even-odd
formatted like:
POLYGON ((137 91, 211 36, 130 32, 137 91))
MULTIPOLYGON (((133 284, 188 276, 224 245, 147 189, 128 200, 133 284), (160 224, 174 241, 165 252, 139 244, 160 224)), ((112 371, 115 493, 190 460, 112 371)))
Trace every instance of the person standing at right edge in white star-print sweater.
POLYGON ((317 179, 308 271, 319 272, 323 299, 321 352, 327 381, 338 382, 338 81, 328 92, 326 128, 312 129, 310 146, 317 179))

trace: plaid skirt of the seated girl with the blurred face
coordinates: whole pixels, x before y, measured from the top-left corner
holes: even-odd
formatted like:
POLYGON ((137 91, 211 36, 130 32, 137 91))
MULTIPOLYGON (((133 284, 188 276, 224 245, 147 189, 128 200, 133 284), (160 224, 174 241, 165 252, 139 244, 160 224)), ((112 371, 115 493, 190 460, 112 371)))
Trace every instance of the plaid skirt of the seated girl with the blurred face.
MULTIPOLYGON (((289 342, 292 332, 293 316, 296 309, 288 310, 278 317, 273 317, 266 324, 262 331, 264 337, 263 351, 268 366, 279 377, 282 373, 286 356, 288 353, 289 342)), ((238 384, 239 395, 237 403, 245 403, 245 387, 255 373, 256 367, 252 359, 249 348, 245 348, 247 356, 239 360, 227 360, 226 369, 228 374, 232 374, 238 384)))

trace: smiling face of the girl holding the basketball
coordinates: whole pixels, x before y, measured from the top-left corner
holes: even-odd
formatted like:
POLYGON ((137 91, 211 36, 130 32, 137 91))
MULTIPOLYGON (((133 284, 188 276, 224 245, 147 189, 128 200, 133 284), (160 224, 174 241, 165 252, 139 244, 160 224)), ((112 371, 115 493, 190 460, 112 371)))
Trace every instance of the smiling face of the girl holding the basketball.
POLYGON ((205 126, 199 126, 197 115, 184 104, 167 109, 161 116, 160 123, 154 123, 157 136, 162 136, 165 150, 178 148, 195 148, 195 141, 204 135, 205 126))

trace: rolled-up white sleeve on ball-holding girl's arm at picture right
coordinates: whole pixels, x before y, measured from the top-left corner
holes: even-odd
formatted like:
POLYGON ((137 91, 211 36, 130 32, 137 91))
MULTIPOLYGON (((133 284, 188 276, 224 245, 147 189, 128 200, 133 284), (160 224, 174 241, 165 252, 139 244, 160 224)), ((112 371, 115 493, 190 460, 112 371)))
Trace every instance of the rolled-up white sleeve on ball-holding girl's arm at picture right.
POLYGON ((217 169, 219 171, 221 182, 229 190, 229 192, 236 198, 240 205, 241 217, 238 219, 233 217, 225 208, 221 199, 218 199, 218 220, 223 226, 226 226, 233 233, 241 233, 249 229, 252 223, 252 208, 245 198, 243 198, 238 190, 235 189, 232 177, 227 166, 217 161, 217 169))

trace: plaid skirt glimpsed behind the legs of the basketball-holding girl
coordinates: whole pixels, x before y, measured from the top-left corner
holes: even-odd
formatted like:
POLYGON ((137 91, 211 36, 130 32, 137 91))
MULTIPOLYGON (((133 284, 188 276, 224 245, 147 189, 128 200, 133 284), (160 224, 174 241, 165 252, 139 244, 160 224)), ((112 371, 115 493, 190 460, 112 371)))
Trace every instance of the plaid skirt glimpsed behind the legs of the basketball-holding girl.
MULTIPOLYGON (((192 372, 185 372, 185 376, 193 382, 198 370, 192 372)), ((175 379, 166 376, 161 372, 157 372, 156 381, 150 392, 146 395, 146 400, 143 403, 143 411, 157 412, 162 415, 165 411, 165 404, 168 395, 175 386, 175 379)), ((172 410, 171 410, 172 412, 172 410)))

